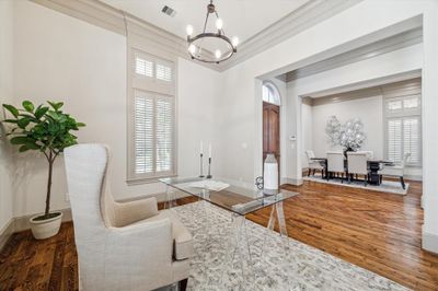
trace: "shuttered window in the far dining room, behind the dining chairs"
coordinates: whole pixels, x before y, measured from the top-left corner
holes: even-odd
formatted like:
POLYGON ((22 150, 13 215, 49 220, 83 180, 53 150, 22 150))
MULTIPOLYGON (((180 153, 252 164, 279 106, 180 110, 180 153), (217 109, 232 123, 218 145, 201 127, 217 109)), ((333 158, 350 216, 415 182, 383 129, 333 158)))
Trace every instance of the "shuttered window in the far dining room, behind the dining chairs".
POLYGON ((387 119, 387 158, 402 163, 406 153, 412 166, 422 164, 422 118, 420 95, 387 97, 384 102, 387 119))

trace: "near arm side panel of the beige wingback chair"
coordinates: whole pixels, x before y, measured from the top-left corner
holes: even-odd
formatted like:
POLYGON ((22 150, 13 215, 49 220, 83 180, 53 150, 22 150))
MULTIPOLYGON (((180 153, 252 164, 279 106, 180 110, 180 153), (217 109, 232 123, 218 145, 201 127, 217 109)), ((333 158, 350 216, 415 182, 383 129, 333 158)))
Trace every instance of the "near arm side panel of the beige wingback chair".
POLYGON ((110 228, 105 246, 105 287, 111 290, 155 289, 173 282, 170 219, 110 228))

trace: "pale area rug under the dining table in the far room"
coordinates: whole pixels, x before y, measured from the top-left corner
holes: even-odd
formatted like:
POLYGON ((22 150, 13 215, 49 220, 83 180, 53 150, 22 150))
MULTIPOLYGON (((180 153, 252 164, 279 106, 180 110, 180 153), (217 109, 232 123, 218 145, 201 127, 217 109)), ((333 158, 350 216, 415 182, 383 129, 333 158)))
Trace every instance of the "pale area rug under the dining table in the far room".
POLYGON ((342 183, 341 178, 331 178, 331 179, 326 181, 326 179, 323 179, 318 176, 303 177, 302 179, 318 182, 318 183, 332 184, 332 185, 338 185, 338 186, 345 186, 345 187, 351 187, 351 188, 373 190, 373 191, 393 193, 393 194, 399 194, 399 195, 406 195, 407 189, 410 188, 408 183, 405 184, 405 189, 403 189, 400 182, 395 182, 395 181, 383 181, 382 184, 380 184, 379 186, 371 185, 371 184, 368 184, 367 186, 365 186, 362 181, 353 181, 353 182, 348 183, 347 181, 344 179, 344 183, 342 183))

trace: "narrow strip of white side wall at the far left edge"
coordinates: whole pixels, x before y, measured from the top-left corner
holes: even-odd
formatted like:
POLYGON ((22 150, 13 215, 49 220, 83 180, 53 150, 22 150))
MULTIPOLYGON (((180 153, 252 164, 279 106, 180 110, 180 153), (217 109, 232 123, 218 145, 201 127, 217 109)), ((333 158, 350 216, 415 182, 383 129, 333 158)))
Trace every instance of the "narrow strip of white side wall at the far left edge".
MULTIPOLYGON (((13 5, 0 1, 0 106, 13 97, 13 5)), ((3 116, 0 109, 0 117, 3 116)), ((0 125, 0 231, 12 219, 12 172, 10 147, 0 125)))

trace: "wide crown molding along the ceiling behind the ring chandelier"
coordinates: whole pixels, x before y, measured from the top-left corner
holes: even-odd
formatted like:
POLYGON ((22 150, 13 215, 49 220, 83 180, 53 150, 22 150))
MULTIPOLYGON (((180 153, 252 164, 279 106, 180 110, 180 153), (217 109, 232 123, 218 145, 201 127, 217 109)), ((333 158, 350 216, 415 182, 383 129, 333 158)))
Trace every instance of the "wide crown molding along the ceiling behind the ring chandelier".
MULTIPOLYGON (((150 39, 164 50, 177 57, 192 60, 187 54, 186 39, 143 21, 123 10, 115 9, 99 0, 30 0, 46 8, 85 21, 93 25, 110 30, 120 35, 135 33, 150 39)), ((224 71, 249 58, 273 47, 293 35, 359 3, 362 0, 310 0, 273 25, 243 42, 235 56, 219 65, 197 63, 217 71, 224 71)), ((211 53, 210 53, 211 54, 211 53)), ((212 54, 211 54, 212 55, 212 54)), ((195 61, 195 60, 193 60, 195 61)))

